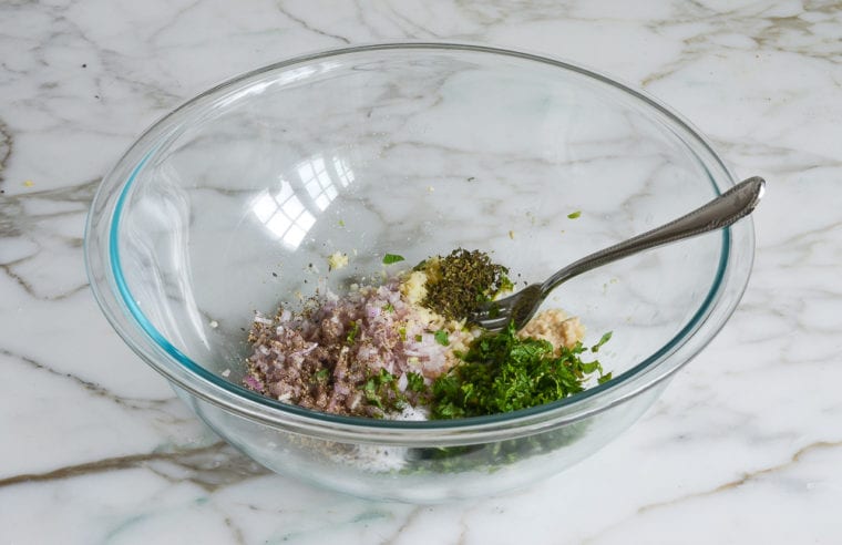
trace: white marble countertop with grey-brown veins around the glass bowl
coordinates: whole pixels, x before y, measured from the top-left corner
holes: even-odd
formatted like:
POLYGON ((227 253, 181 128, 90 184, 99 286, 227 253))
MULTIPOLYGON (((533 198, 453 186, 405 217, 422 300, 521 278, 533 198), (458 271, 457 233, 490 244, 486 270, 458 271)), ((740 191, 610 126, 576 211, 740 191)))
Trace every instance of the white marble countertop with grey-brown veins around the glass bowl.
POLYGON ((833 1, 0 3, 0 543, 840 543, 842 6, 833 1), (443 506, 267 474, 88 289, 99 179, 232 74, 380 40, 562 56, 672 105, 769 181, 749 289, 632 430, 561 477, 443 506))

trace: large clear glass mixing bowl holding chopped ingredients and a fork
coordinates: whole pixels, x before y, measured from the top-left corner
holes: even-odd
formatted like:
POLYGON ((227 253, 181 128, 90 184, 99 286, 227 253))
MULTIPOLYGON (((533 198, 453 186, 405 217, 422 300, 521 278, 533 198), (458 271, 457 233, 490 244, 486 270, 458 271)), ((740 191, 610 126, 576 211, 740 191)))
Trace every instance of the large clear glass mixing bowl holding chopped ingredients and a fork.
MULTIPOLYGON (((750 220, 576 278, 609 382, 453 421, 321 414, 240 385, 255 310, 479 248, 518 280, 702 204, 733 177, 687 122, 583 68, 460 44, 349 48, 233 79, 146 131, 103 179, 85 255, 125 342, 267 467, 374 498, 440 502, 555 474, 629 426, 723 326, 750 220), (577 218, 568 214, 581 212, 577 218), (327 256, 350 265, 327 272, 327 256)), ((574 214, 575 216, 575 214, 574 214)))

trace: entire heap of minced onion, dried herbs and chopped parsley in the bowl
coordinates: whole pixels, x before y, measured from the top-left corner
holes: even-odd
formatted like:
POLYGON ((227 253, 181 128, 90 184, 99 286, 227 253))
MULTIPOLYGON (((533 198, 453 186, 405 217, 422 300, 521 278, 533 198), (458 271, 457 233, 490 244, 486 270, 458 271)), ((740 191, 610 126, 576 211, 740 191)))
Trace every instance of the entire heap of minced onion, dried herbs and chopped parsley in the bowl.
MULTIPOLYGON (((384 265, 402 261, 387 254, 384 265)), ((331 267, 347 263, 331 256, 331 267)), ((378 286, 330 290, 302 308, 255 316, 247 388, 324 412, 400 420, 495 414, 563 399, 610 379, 595 357, 609 333, 582 345, 578 318, 538 312, 521 331, 466 321, 513 288, 479 250, 434 256, 378 286)))

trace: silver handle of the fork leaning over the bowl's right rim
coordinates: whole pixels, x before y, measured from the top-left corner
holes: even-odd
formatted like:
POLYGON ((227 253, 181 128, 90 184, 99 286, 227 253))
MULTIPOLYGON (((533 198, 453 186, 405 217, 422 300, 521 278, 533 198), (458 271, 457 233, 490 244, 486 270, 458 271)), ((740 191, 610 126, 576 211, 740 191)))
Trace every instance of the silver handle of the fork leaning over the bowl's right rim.
POLYGON ((572 263, 547 278, 541 286, 541 291, 546 295, 574 276, 638 251, 728 227, 754 209, 763 196, 764 188, 766 182, 759 176, 745 179, 713 200, 678 219, 572 263))

